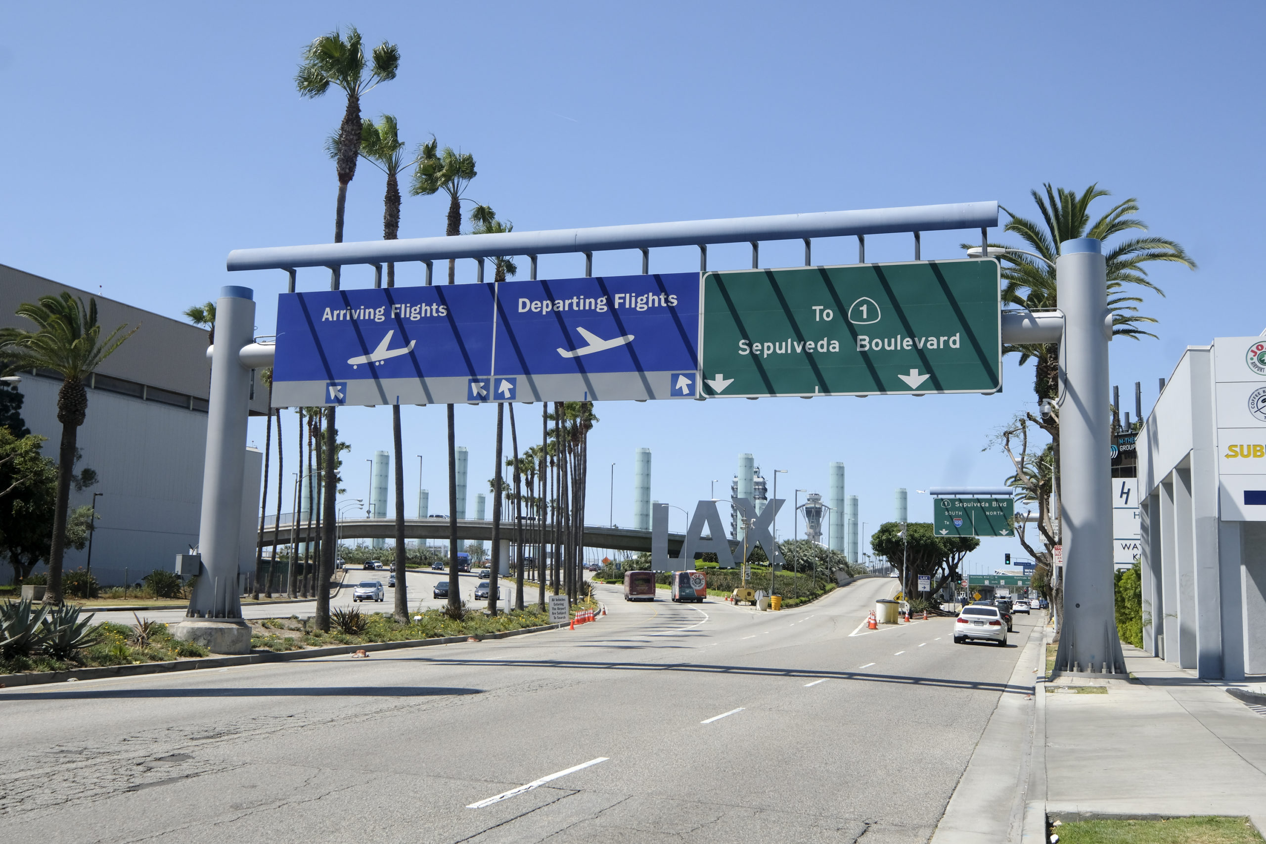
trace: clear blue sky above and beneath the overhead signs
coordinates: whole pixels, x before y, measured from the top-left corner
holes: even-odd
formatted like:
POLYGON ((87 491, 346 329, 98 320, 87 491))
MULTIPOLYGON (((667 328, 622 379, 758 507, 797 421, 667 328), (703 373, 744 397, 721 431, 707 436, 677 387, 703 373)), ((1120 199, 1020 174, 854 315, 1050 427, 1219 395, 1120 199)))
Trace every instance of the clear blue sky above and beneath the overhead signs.
MULTIPOLYGON (((1188 344, 1266 326, 1250 245, 1262 232, 1258 4, 43 3, 0 20, 0 262, 171 316, 239 283, 256 289, 270 333, 284 273, 230 277, 227 253, 332 239, 337 182, 322 143, 343 104, 300 99, 292 77, 306 42, 354 24, 403 54, 363 114, 395 114, 410 146, 434 133, 472 152, 468 195, 519 229, 993 199, 1031 214, 1042 182, 1099 182, 1138 197, 1152 232, 1200 264, 1153 271, 1167 297, 1143 309, 1160 339, 1114 342, 1113 383, 1128 394, 1142 381, 1150 406, 1188 344)), ((381 196, 362 164, 348 240, 381 237, 381 196)), ((439 197, 406 199, 401 237, 442 234, 444 211, 439 197)), ((923 256, 958 257, 961 239, 929 233, 923 256)), ((912 257, 908 235, 867 245, 871 261, 912 257)), ((799 248, 765 244, 762 263, 794 266, 799 248)), ((856 261, 856 240, 818 242, 814 257, 856 261)), ((709 251, 717 268, 747 261, 746 247, 709 251)), ((657 271, 696 262, 690 249, 652 256, 657 271)), ((637 266, 637 253, 595 256, 600 275, 637 266)), ((357 272, 344 283, 368 283, 357 272)), ((419 283, 411 272, 400 283, 419 283)), ((581 272, 579 256, 541 261, 546 278, 581 272)), ((462 273, 473 280, 472 262, 462 273)), ((327 283, 300 275, 301 289, 327 283)), ((993 397, 599 405, 589 519, 606 519, 614 462, 614 519, 630 521, 637 447, 653 449, 653 497, 687 509, 752 452, 766 473, 789 469, 786 497, 825 493, 838 459, 870 528, 893 518, 901 486, 912 519, 927 519, 914 490, 1009 472, 981 449, 1032 406, 1032 369, 1012 359, 1005 377, 993 397)), ((539 405, 520 410, 532 444, 539 405)), ((492 473, 494 416, 457 409, 471 510, 492 473)), ((339 421, 361 497, 365 458, 390 450, 390 414, 351 409, 339 421)), ((414 454, 433 500, 446 497, 443 410, 410 407, 405 421, 411 515, 414 454)), ((262 447, 262 423, 252 440, 262 447)), ((1005 550, 1018 543, 986 542, 974 569, 1005 550)))

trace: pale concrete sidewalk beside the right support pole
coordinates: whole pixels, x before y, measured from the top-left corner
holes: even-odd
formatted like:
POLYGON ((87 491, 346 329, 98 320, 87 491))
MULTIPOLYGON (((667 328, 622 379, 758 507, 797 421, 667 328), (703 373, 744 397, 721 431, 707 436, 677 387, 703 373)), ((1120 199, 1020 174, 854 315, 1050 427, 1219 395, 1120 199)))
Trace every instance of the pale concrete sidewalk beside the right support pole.
POLYGON ((1266 833, 1266 716, 1227 686, 1123 647, 1134 682, 1057 677, 1038 685, 1024 840, 1044 836, 1042 811, 1248 815, 1266 833), (1105 692, 1079 692, 1085 687, 1105 692))

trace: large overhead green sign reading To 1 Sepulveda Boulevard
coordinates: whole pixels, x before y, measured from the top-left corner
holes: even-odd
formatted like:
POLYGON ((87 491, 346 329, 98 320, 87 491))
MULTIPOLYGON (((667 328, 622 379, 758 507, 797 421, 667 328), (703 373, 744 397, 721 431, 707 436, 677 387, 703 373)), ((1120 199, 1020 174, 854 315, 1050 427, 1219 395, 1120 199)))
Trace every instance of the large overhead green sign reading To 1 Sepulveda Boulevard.
POLYGON ((996 392, 987 259, 705 272, 705 396, 996 392))

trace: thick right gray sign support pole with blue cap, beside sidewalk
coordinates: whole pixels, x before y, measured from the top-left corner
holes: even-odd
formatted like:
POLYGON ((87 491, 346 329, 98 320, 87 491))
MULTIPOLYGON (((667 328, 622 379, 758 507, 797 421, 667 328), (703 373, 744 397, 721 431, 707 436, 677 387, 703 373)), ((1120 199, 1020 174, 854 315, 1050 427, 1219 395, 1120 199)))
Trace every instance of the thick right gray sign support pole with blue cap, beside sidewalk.
POLYGON ((1063 619, 1055 667, 1124 673, 1112 563, 1108 405, 1108 270, 1094 238, 1066 240, 1056 261, 1065 318, 1060 473, 1063 505, 1063 619))

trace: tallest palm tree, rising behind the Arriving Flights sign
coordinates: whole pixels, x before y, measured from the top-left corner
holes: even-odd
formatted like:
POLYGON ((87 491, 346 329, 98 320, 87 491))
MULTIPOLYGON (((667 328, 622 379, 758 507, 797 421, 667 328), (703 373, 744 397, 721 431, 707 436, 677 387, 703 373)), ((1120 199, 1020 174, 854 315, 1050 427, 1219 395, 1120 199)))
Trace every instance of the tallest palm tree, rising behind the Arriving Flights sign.
MULTIPOLYGON (((328 35, 315 39, 304 51, 304 62, 295 75, 295 86, 300 96, 318 97, 337 86, 347 95, 347 108, 338 130, 338 202, 334 210, 334 243, 343 242, 343 210, 347 205, 347 186, 356 176, 356 159, 361 149, 361 96, 373 90, 379 84, 395 78, 400 67, 400 49, 385 40, 373 48, 371 62, 366 67, 365 51, 361 46, 361 33, 354 27, 348 28, 344 39, 335 29, 328 35)), ((338 290, 339 270, 334 267, 330 289, 338 290)), ((333 456, 337 448, 338 429, 334 426, 334 406, 325 409, 325 450, 333 456)), ((316 626, 329 630, 329 590, 325 585, 334 573, 334 495, 335 459, 325 461, 325 499, 324 499, 324 554, 319 563, 320 588, 316 590, 316 626)))

